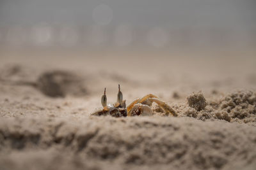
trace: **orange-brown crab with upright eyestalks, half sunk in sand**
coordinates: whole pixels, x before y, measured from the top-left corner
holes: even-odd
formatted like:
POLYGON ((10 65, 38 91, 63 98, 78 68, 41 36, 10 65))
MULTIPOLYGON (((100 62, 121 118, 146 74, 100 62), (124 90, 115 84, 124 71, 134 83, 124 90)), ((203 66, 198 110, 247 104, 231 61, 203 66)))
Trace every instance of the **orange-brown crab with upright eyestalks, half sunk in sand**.
POLYGON ((114 104, 107 104, 106 88, 101 97, 103 109, 99 109, 92 113, 95 116, 111 115, 112 117, 134 117, 134 116, 152 116, 154 111, 151 106, 156 103, 166 116, 177 117, 177 113, 164 101, 161 101, 157 96, 148 94, 142 98, 134 100, 126 107, 123 94, 118 85, 117 101, 114 104))

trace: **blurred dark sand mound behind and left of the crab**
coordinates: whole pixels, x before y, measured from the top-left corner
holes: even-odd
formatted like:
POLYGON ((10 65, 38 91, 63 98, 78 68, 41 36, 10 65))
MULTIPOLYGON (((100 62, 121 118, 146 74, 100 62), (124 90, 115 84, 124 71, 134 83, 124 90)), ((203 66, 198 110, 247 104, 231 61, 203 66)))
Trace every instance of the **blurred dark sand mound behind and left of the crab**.
POLYGON ((71 71, 52 70, 38 73, 38 75, 32 73, 33 70, 20 64, 7 64, 1 68, 0 81, 8 85, 31 86, 49 97, 88 94, 83 76, 71 71))

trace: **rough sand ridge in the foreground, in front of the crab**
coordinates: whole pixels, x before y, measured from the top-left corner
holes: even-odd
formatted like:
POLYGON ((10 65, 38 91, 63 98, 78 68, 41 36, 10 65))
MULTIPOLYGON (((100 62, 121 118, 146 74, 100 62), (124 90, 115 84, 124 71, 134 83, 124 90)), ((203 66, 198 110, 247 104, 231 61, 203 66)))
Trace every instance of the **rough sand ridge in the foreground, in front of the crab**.
POLYGON ((0 131, 1 165, 6 169, 35 164, 31 157, 16 162, 15 156, 22 152, 43 159, 42 169, 59 169, 77 157, 82 167, 115 162, 127 168, 164 164, 179 169, 230 169, 253 164, 256 153, 255 127, 193 118, 91 117, 76 122, 6 118, 0 131), (58 160, 49 165, 52 159, 47 157, 58 160))

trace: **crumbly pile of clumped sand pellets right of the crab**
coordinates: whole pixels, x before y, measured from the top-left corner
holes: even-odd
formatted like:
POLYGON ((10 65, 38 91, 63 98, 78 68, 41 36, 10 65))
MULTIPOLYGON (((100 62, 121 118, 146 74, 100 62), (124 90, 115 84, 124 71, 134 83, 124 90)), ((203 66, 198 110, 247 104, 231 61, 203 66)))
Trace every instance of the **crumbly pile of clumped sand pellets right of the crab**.
POLYGON ((193 93, 187 99, 189 107, 175 107, 180 117, 214 118, 256 125, 256 94, 250 90, 234 91, 221 99, 209 100, 209 104, 201 92, 193 93))

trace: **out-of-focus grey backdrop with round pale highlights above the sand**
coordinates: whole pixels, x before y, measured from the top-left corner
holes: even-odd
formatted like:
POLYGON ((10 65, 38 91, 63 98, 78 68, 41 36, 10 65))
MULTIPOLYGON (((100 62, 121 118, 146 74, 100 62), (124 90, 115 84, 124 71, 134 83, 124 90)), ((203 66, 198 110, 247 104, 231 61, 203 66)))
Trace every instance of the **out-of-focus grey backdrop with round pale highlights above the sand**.
POLYGON ((0 2, 0 45, 254 48, 252 0, 0 2))

